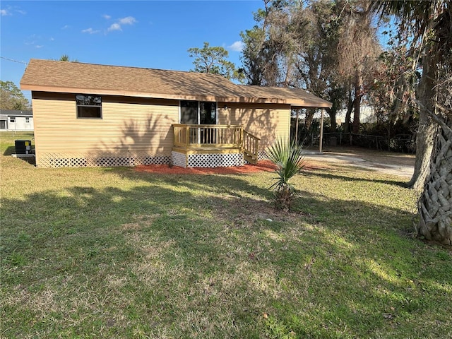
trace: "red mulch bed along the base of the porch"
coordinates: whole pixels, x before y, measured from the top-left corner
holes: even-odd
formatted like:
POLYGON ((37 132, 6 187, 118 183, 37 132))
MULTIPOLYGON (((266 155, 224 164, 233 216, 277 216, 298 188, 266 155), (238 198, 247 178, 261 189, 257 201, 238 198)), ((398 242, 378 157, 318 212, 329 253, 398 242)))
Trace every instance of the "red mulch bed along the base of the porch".
MULTIPOLYGON (((305 166, 304 169, 313 167, 305 166)), ((274 172, 276 166, 270 160, 260 160, 255 165, 244 165, 237 167, 177 167, 169 165, 140 165, 134 167, 137 172, 160 173, 160 174, 246 174, 256 172, 274 172)))

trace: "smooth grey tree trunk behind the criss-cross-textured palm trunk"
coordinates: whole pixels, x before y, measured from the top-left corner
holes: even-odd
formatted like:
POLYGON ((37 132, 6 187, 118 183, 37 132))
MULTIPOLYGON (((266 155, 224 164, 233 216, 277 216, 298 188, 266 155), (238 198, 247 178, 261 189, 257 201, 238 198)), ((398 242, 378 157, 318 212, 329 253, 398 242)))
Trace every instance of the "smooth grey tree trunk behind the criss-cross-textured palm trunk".
POLYGON ((435 98, 434 85, 436 79, 436 58, 426 53, 422 61, 422 77, 417 88, 417 97, 420 102, 419 124, 416 136, 415 172, 406 186, 416 190, 424 187, 429 175, 430 160, 433 149, 436 124, 432 124, 428 112, 434 112, 433 100, 435 98))

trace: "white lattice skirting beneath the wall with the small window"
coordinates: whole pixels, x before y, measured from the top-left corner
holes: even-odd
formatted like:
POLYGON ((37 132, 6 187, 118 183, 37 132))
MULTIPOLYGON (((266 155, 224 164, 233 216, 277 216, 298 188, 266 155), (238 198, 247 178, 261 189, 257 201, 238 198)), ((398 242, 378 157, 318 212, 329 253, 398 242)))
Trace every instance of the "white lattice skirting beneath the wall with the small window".
POLYGON ((117 155, 89 157, 80 154, 47 153, 41 156, 37 167, 114 167, 169 164, 169 156, 117 155))

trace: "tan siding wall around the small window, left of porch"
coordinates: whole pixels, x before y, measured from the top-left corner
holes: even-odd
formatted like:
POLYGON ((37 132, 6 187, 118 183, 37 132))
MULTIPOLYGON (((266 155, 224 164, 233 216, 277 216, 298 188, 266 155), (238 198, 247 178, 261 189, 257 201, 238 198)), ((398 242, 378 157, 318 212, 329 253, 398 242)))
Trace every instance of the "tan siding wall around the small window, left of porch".
POLYGON ((102 96, 102 119, 78 119, 71 94, 33 93, 32 105, 38 165, 45 153, 171 155, 177 100, 102 96))

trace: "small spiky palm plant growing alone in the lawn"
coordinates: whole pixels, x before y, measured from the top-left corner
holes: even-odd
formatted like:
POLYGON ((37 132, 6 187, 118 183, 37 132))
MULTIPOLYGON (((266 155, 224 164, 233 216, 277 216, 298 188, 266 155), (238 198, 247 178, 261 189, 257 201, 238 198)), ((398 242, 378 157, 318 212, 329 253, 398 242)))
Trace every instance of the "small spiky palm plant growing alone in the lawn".
POLYGON ((276 165, 276 182, 270 186, 273 189, 275 206, 280 210, 290 210, 292 201, 297 196, 297 189, 289 180, 298 174, 304 166, 302 145, 294 141, 277 139, 266 151, 268 159, 276 165))

